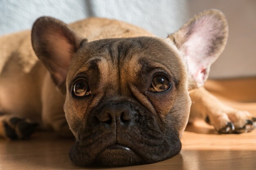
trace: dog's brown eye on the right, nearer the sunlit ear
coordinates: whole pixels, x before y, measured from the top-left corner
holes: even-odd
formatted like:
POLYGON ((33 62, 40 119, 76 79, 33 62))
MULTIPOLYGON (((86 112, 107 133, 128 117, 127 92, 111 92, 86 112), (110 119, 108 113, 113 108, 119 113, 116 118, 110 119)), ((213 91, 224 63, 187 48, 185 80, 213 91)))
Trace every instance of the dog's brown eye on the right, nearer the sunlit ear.
POLYGON ((166 91, 170 87, 171 87, 171 82, 169 82, 166 77, 164 77, 163 75, 157 75, 153 78, 149 91, 161 92, 161 91, 166 91))

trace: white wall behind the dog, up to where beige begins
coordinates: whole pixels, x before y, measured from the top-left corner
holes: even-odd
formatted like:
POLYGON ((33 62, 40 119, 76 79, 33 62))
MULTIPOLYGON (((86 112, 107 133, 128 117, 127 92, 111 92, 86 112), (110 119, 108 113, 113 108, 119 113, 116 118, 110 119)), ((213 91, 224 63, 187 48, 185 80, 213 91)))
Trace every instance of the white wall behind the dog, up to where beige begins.
POLYGON ((64 22, 89 16, 113 18, 166 37, 188 18, 186 0, 0 0, 0 35, 30 29, 49 15, 64 22))

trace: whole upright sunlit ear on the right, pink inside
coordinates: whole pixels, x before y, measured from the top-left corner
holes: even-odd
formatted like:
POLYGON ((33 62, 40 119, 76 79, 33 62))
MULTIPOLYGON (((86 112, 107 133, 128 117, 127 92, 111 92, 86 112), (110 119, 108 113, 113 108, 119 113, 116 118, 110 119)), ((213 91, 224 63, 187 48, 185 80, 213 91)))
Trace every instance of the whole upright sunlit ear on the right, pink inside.
POLYGON ((204 85, 211 64, 222 53, 228 37, 227 21, 216 9, 195 15, 167 38, 181 51, 189 76, 188 90, 204 85))

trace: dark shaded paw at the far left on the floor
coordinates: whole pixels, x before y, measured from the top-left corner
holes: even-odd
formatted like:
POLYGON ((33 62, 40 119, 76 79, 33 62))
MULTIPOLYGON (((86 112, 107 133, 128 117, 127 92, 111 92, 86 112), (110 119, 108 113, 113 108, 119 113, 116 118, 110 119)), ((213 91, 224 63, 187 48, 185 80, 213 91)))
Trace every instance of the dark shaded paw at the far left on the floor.
POLYGON ((4 137, 11 140, 27 139, 35 131, 37 123, 29 119, 21 119, 18 117, 6 117, 2 120, 4 129, 4 137))

